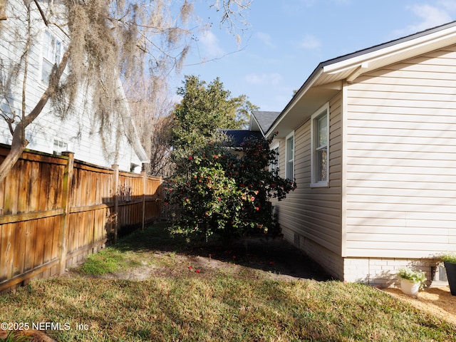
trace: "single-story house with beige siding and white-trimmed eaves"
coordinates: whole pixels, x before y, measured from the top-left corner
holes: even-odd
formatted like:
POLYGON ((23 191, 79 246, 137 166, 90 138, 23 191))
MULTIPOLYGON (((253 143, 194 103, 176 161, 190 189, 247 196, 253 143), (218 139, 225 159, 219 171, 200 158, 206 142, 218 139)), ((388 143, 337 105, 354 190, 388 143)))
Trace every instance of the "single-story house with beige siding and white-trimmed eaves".
POLYGON ((276 131, 286 239, 337 279, 436 279, 456 251, 456 22, 320 63, 276 131))

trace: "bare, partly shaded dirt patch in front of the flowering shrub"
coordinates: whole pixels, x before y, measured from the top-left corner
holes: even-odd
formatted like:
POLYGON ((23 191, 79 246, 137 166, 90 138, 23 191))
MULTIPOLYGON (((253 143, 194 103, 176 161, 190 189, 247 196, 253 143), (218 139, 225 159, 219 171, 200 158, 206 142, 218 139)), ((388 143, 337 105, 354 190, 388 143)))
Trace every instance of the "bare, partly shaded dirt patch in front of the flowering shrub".
POLYGON ((281 237, 249 237, 229 246, 212 244, 182 254, 155 250, 147 254, 142 264, 96 277, 142 281, 153 276, 230 274, 254 279, 331 279, 314 261, 281 237))

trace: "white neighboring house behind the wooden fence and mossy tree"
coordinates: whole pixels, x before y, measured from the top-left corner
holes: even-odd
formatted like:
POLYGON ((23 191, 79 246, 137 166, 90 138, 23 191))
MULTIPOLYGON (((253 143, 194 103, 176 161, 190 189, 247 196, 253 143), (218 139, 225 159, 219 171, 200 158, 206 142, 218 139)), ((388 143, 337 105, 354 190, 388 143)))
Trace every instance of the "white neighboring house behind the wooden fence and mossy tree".
MULTIPOLYGON (((38 4, 46 10, 48 2, 38 1, 38 4)), ((68 40, 57 26, 46 26, 43 23, 33 1, 31 6, 33 10, 26 73, 26 113, 36 105, 46 90, 51 69, 61 60, 68 40)), ((24 2, 9 0, 6 15, 8 19, 0 21, 0 114, 4 118, 12 118, 13 115, 20 116, 22 112, 27 36, 24 2), (11 78, 19 61, 19 73, 17 77, 11 78)), ((117 164, 120 170, 140 172, 142 163, 148 162, 147 155, 140 144, 120 81, 118 85, 120 103, 125 109, 119 115, 112 115, 110 123, 105 123, 104 126, 110 129, 105 130, 103 139, 99 134, 100 123, 93 114, 90 90, 81 90, 76 100, 76 110, 65 120, 56 115, 57 110, 51 103, 46 104, 36 122, 27 128, 27 148, 56 154, 70 150, 75 153, 77 160, 105 167, 117 164)), ((4 118, 0 117, 0 143, 11 145, 11 133, 4 118)))

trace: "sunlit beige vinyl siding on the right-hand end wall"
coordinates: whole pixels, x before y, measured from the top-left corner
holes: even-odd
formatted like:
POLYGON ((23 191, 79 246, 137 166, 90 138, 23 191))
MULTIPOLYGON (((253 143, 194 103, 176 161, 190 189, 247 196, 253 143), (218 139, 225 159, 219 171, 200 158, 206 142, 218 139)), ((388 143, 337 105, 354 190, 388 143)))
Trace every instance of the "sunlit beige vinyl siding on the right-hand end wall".
POLYGON ((347 89, 346 257, 456 250, 456 48, 347 89))

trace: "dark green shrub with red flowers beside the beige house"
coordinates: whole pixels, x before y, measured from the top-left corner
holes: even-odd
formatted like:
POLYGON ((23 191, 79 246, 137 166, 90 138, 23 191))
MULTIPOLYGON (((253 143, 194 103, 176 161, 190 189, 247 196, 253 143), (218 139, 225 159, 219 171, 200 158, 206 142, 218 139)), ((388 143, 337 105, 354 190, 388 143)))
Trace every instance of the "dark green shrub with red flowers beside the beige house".
POLYGON ((296 184, 269 172, 275 160, 270 140, 252 138, 242 145, 242 156, 213 143, 192 155, 176 158, 177 172, 167 188, 172 204, 172 232, 215 232, 225 238, 246 233, 277 230, 270 199, 281 200, 296 184))

